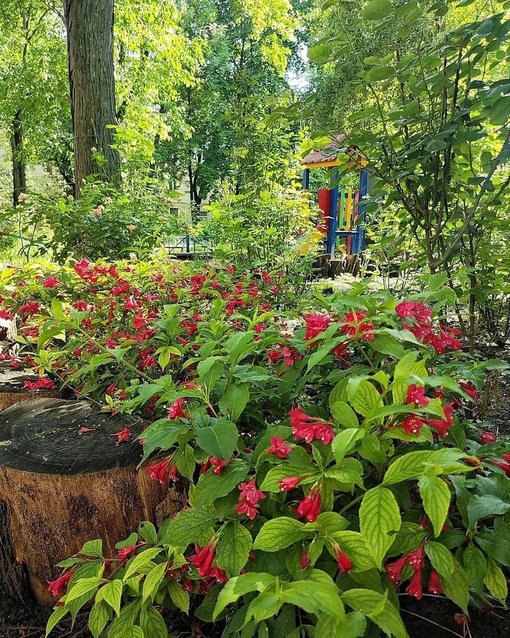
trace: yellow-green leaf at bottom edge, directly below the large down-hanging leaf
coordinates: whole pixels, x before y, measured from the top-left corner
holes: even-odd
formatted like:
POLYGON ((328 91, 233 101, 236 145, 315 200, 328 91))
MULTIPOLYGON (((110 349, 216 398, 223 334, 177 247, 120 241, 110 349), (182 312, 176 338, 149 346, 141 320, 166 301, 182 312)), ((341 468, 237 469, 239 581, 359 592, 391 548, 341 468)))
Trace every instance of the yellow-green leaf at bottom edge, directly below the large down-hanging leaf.
POLYGON ((346 605, 365 614, 387 636, 409 638, 400 614, 387 599, 386 594, 371 589, 349 589, 341 597, 346 605))

